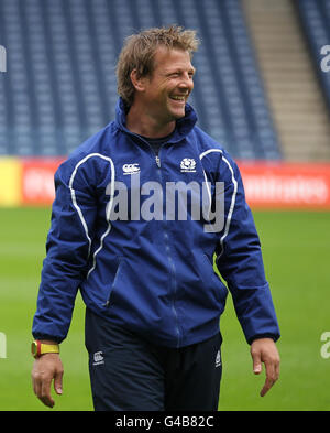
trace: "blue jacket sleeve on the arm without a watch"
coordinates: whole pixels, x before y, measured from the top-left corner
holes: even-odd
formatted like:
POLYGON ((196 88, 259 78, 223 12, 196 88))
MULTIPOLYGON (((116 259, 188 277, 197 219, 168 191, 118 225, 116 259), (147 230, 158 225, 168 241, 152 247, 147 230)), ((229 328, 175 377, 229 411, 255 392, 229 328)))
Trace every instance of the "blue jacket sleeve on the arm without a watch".
POLYGON ((246 342, 258 337, 279 338, 279 327, 265 278, 260 238, 245 202, 239 167, 223 153, 226 223, 216 250, 216 263, 228 283, 246 342))

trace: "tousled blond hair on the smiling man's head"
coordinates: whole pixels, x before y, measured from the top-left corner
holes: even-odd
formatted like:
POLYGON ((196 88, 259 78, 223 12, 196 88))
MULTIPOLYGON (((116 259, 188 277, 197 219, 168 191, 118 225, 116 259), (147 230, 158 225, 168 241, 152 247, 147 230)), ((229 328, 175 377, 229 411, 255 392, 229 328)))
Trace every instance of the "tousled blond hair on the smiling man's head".
POLYGON ((152 28, 127 37, 117 64, 118 94, 128 106, 133 104, 135 89, 131 82, 131 72, 136 69, 139 77, 152 74, 157 47, 188 51, 193 57, 198 45, 196 31, 184 30, 178 25, 152 28))

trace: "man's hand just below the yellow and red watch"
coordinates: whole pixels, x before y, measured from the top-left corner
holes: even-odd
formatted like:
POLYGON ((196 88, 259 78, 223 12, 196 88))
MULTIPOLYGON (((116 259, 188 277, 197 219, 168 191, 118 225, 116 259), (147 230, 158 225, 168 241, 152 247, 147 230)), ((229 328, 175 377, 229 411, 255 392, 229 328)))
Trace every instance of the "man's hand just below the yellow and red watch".
POLYGON ((55 404, 51 396, 54 379, 55 392, 62 394, 63 364, 58 354, 44 354, 35 359, 32 369, 32 385, 35 396, 48 408, 55 404))

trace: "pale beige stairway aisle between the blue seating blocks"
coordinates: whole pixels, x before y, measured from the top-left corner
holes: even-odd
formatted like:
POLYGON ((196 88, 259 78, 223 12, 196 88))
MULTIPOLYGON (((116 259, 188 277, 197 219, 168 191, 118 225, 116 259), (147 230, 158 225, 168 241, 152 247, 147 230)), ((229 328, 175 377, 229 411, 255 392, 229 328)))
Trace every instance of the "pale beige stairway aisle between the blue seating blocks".
POLYGON ((316 72, 297 3, 242 0, 283 159, 330 161, 329 110, 317 79, 320 64, 316 72))

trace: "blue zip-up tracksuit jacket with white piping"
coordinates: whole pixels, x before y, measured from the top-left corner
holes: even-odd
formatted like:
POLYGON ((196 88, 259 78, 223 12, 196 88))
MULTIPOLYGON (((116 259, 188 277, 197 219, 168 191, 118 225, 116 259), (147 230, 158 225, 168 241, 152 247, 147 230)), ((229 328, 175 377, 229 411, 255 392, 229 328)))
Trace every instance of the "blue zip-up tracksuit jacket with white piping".
POLYGON ((279 337, 239 169, 196 120, 187 105, 155 158, 148 143, 125 128, 119 99, 116 120, 59 166, 35 338, 61 343, 66 337, 80 289, 95 313, 151 342, 182 347, 205 340, 219 332, 228 294, 213 271, 215 253, 246 340, 279 337), (217 183, 223 185, 223 224, 212 231, 205 229, 206 214, 194 218, 188 205, 205 184, 200 194, 213 209, 217 183), (195 187, 186 196, 185 218, 179 215, 182 195, 165 197, 168 185, 195 187))

